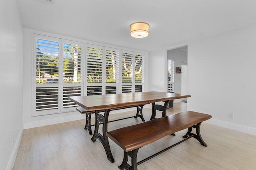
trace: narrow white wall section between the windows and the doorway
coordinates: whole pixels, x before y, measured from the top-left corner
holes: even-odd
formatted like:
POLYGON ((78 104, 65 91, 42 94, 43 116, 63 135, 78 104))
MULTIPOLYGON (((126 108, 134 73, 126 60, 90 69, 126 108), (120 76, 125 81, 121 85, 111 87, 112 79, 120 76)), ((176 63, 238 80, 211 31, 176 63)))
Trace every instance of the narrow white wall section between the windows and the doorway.
POLYGON ((148 91, 167 91, 167 51, 148 53, 148 91))

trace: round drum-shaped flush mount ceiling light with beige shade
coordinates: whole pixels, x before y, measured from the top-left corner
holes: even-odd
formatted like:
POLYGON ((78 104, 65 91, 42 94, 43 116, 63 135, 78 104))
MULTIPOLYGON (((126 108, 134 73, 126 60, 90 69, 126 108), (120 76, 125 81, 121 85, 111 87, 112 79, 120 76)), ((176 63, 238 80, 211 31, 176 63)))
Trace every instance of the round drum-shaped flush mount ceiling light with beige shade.
POLYGON ((145 22, 135 22, 130 26, 130 34, 134 38, 144 38, 149 34, 149 25, 145 22))

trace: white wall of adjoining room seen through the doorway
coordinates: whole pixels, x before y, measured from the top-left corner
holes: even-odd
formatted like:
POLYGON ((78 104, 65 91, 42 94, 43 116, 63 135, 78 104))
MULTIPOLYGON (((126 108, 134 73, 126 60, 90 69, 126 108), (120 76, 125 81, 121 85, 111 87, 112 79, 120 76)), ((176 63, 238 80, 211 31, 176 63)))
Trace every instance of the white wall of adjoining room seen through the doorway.
MULTIPOLYGON (((176 49, 167 51, 167 58, 174 59, 175 67, 181 67, 181 64, 188 62, 188 54, 176 49)), ((174 92, 181 93, 181 74, 174 74, 174 92)), ((174 100, 174 103, 181 102, 182 99, 174 100)))

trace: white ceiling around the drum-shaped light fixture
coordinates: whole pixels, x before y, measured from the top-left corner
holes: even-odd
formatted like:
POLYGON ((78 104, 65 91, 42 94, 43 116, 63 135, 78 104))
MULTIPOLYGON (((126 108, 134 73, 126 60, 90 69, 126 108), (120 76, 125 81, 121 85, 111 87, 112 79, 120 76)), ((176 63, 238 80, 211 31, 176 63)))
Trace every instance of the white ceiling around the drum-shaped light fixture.
POLYGON ((16 0, 25 28, 141 51, 256 25, 256 0, 16 0), (130 36, 130 24, 150 34, 130 36))

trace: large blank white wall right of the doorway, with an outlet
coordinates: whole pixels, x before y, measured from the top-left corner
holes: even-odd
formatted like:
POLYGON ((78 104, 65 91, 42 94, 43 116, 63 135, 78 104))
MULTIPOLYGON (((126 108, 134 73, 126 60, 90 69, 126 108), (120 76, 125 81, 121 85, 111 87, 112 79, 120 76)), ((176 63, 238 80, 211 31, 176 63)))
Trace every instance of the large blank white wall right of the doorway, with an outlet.
POLYGON ((256 135, 255 55, 256 27, 188 43, 188 110, 256 135))

